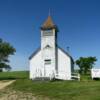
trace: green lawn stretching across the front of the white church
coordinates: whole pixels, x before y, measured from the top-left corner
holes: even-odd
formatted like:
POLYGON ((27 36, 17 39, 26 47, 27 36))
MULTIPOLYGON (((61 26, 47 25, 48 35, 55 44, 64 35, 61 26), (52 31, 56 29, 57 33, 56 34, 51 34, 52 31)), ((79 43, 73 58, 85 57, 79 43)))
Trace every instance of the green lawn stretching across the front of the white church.
MULTIPOLYGON (((28 79, 28 72, 13 72, 13 74, 16 76, 16 82, 8 88, 14 91, 33 93, 36 96, 49 97, 50 100, 100 100, 100 81, 92 81, 89 76, 82 76, 83 78, 81 78, 80 82, 36 82, 28 79)), ((11 76, 13 75, 11 74, 11 76)))

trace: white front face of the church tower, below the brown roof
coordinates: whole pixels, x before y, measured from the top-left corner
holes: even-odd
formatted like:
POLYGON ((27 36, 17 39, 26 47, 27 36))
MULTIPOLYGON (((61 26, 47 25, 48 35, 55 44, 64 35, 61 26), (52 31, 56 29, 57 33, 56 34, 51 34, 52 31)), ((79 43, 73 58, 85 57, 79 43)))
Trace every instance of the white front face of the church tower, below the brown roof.
MULTIPOLYGON (((45 30, 46 31, 46 30, 45 30)), ((44 74, 45 77, 48 77, 48 75, 55 72, 55 66, 56 66, 56 55, 55 55, 55 29, 51 30, 50 35, 43 35, 45 33, 44 30, 41 31, 41 56, 43 61, 43 67, 44 67, 44 74), (46 46, 49 45, 50 48, 46 48, 46 46), (45 60, 50 59, 51 64, 46 65, 45 60), (48 74, 47 74, 48 73, 48 74)))

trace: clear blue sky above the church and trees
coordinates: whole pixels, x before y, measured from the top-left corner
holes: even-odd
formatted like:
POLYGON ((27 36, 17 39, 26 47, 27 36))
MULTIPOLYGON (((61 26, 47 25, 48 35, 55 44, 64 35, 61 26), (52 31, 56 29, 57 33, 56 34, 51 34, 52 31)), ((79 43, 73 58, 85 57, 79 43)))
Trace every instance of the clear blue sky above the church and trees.
POLYGON ((40 47, 40 27, 51 12, 58 45, 77 60, 96 56, 100 68, 100 0, 0 0, 0 38, 16 48, 12 70, 28 70, 29 56, 40 47))

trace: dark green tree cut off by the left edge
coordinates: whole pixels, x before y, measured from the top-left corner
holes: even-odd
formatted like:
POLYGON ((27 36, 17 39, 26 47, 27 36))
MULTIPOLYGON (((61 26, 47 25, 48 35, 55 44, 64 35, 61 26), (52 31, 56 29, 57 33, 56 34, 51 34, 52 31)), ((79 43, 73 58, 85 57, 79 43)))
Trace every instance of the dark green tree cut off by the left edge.
POLYGON ((0 39, 0 70, 3 68, 10 70, 11 67, 8 65, 9 55, 13 55, 15 52, 15 48, 13 48, 9 43, 4 42, 0 39))

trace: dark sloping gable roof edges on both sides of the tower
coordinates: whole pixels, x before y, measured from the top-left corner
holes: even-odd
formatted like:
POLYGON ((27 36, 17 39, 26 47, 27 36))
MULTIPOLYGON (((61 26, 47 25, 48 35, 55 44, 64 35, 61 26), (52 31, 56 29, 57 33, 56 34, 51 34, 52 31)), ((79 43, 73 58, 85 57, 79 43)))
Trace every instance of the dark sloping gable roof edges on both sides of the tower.
MULTIPOLYGON (((62 49, 58 45, 56 47, 59 48, 62 52, 64 52, 68 57, 70 57, 70 59, 74 63, 72 56, 68 52, 66 52, 64 49, 62 49)), ((29 60, 31 60, 40 50, 41 50, 41 48, 39 47, 35 52, 33 52, 32 55, 29 57, 29 60)))

